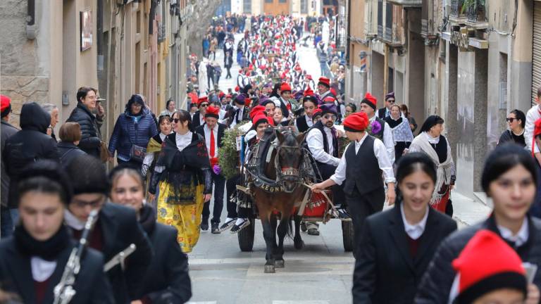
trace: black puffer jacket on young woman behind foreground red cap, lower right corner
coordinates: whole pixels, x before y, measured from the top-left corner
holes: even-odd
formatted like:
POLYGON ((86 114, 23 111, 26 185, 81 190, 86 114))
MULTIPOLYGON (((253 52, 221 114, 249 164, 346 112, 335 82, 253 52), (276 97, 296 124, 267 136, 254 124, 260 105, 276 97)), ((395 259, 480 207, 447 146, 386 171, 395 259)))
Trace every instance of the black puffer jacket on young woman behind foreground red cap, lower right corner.
MULTIPOLYGON (((456 275, 451 263, 458 258, 473 235, 482 229, 488 229, 499 235, 494 217, 491 216, 485 222, 454 232, 442 241, 421 280, 414 303, 449 302, 449 291, 456 275)), ((528 241, 515 250, 523 262, 541 265, 541 220, 528 217, 528 241)), ((535 274, 533 283, 541 289, 540 271, 535 274)))

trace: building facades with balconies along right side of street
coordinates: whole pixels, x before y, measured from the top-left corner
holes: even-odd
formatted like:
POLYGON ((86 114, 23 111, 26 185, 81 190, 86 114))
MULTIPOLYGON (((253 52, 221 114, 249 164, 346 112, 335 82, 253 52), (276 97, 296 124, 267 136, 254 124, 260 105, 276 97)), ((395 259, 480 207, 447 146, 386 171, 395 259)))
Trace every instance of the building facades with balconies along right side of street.
POLYGON ((456 189, 483 200, 481 170, 506 114, 526 113, 541 85, 541 1, 350 0, 346 15, 347 99, 371 91, 383 106, 394 91, 419 125, 442 116, 456 189))

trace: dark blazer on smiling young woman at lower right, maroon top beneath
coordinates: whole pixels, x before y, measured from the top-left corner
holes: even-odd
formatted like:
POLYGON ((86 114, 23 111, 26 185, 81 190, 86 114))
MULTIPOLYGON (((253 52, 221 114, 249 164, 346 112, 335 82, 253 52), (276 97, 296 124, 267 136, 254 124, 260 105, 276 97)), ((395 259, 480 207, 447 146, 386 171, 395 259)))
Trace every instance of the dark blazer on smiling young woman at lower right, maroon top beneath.
POLYGON ((428 208, 425 231, 412 258, 399 204, 368 217, 357 245, 353 303, 413 303, 437 246, 454 230, 451 217, 428 208))

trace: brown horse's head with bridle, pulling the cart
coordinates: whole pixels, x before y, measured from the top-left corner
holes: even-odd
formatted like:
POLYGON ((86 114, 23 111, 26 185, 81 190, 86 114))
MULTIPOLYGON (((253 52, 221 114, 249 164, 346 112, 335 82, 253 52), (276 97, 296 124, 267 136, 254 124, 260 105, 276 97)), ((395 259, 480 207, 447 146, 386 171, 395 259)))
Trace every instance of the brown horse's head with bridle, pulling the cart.
POLYGON ((290 127, 276 129, 275 132, 278 138, 276 177, 285 192, 291 193, 301 182, 299 169, 304 158, 301 149, 304 133, 296 134, 290 127))

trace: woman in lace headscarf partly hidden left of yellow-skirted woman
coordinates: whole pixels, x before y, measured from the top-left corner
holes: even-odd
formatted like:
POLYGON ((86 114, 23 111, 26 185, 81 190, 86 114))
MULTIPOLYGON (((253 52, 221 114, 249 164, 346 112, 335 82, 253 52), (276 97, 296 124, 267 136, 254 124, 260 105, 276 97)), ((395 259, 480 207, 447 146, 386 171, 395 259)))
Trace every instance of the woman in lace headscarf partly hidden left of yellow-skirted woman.
MULTIPOLYGON (((160 133, 152 137, 147 145, 147 153, 144 155, 143 165, 141 167, 142 176, 147 178, 147 173, 154 172, 154 166, 156 165, 156 160, 161 151, 161 144, 166 139, 166 137, 171 134, 171 122, 173 120, 169 115, 162 115, 158 120, 158 125, 160 128, 160 133)), ((158 174, 158 173, 156 173, 158 174)), ((149 176, 148 176, 149 177, 149 176)), ((149 185, 150 179, 147 179, 147 185, 149 185)), ((147 192, 148 193, 148 189, 147 192)), ((156 209, 156 201, 149 202, 154 209, 156 209)))

